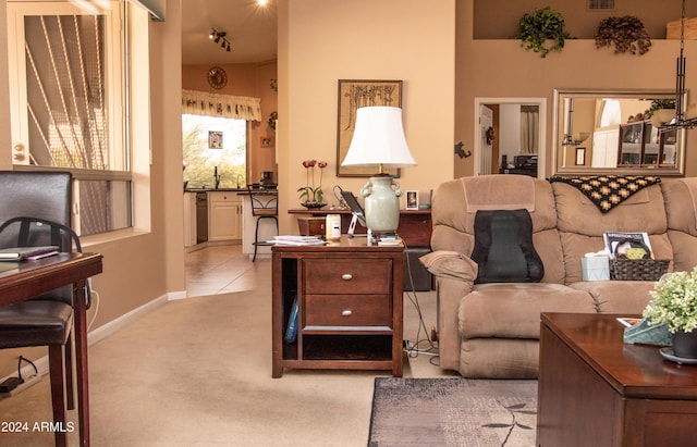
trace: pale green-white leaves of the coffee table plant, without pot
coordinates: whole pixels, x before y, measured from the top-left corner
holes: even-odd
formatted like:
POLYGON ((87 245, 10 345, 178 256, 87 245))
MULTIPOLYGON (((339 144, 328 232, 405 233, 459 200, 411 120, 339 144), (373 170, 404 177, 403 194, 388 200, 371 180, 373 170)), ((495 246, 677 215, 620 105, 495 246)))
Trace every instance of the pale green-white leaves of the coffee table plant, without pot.
POLYGON ((651 324, 668 324, 671 333, 697 328, 697 268, 667 275, 649 294, 652 299, 644 316, 651 324))

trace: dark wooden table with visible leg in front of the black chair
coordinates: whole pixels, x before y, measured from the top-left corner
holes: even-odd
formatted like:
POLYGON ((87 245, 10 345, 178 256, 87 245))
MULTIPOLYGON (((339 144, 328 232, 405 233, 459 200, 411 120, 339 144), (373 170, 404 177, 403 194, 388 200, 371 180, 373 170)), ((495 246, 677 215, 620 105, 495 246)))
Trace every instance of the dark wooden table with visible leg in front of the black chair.
MULTIPOLYGON (((0 273, 0 307, 33 298, 69 284, 75 285, 75 357, 80 445, 89 446, 89 394, 87 373, 87 306, 85 283, 101 273, 101 254, 61 253, 37 261, 16 262, 16 269, 0 273)), ((66 365, 70 368, 70 365, 66 365)), ((65 445, 65 433, 56 434, 56 444, 65 445)))

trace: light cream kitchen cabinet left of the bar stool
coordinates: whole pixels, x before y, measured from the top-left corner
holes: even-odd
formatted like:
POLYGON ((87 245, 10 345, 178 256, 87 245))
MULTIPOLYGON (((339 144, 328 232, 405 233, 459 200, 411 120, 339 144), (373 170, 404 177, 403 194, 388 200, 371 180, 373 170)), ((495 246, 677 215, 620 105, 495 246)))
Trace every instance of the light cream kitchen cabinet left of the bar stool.
POLYGON ((235 191, 208 191, 208 241, 242 239, 242 201, 235 191))

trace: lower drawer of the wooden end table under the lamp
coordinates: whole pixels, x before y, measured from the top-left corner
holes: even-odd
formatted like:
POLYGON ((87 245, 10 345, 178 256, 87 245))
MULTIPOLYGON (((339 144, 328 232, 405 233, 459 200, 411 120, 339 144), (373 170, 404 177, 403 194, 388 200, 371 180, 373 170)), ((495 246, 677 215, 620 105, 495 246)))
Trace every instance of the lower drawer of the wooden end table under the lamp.
POLYGON ((305 326, 392 326, 390 295, 306 295, 305 326))

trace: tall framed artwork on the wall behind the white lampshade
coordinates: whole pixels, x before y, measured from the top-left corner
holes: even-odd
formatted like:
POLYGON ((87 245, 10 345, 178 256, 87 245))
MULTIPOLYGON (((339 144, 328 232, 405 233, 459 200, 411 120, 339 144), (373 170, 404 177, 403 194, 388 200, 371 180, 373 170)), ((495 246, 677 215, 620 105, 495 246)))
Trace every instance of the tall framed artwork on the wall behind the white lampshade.
MULTIPOLYGON (((402 80, 339 79, 339 112, 337 123, 337 176, 371 177, 376 167, 342 166, 356 123, 356 110, 362 107, 402 107, 402 80)), ((392 177, 400 176, 399 169, 387 169, 392 177)))

